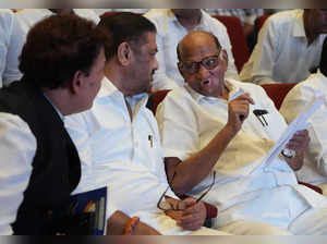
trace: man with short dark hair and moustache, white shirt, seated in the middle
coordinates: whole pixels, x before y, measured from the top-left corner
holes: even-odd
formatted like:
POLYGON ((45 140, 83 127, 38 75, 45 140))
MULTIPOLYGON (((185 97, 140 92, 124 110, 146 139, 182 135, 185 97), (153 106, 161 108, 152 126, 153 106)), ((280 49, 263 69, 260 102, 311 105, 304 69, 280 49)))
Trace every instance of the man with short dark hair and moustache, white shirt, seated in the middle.
POLYGON ((157 233, 154 229, 162 234, 225 234, 201 228, 203 203, 185 199, 186 209, 180 213, 186 215, 178 221, 157 206, 166 190, 166 196, 175 199, 170 200, 179 198, 168 187, 157 122, 146 108, 146 90, 158 68, 156 27, 133 13, 106 16, 99 25, 112 33, 102 87, 92 110, 65 120, 82 159, 76 192, 108 185, 108 233, 122 233, 114 232, 125 221, 119 217, 129 223, 137 216, 145 232, 134 234, 157 233))

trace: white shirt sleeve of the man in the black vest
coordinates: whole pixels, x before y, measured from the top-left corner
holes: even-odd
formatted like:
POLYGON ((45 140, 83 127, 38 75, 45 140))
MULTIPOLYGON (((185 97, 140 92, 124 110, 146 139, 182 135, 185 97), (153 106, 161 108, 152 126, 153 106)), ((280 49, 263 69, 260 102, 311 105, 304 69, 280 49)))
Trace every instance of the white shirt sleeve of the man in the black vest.
POLYGON ((29 181, 36 138, 20 117, 0 112, 0 235, 8 235, 29 181))

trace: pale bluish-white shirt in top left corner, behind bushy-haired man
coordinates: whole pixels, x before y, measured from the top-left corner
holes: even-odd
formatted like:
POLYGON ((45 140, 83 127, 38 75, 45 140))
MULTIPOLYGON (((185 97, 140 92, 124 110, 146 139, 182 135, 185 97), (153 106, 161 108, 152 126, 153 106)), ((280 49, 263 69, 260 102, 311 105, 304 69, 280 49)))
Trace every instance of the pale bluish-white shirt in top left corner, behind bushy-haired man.
POLYGON ((23 36, 14 13, 0 9, 0 87, 22 77, 19 56, 24 42, 23 36))

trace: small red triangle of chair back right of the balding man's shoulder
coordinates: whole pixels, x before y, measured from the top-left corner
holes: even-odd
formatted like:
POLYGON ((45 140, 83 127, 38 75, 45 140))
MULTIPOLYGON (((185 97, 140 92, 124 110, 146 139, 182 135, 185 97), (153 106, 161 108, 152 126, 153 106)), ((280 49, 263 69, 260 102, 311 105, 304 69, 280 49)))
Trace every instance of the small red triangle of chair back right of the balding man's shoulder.
POLYGON ((279 110, 284 97, 296 84, 298 83, 265 84, 262 85, 262 87, 266 90, 266 94, 279 110))

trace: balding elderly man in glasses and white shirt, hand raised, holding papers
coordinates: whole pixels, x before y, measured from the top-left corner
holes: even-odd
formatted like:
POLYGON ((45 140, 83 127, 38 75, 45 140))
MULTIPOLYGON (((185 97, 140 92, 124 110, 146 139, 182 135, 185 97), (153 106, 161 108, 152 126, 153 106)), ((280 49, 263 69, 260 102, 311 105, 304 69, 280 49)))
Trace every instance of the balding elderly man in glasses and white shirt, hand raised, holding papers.
POLYGON ((263 161, 287 124, 262 87, 225 80, 220 52, 214 36, 203 32, 179 45, 187 85, 170 91, 157 111, 172 188, 196 197, 216 171, 204 198, 218 208, 216 228, 242 234, 257 223, 255 233, 262 234, 265 223, 292 234, 326 234, 327 199, 299 185, 293 172, 303 163, 307 132, 287 145, 295 157, 263 161))

